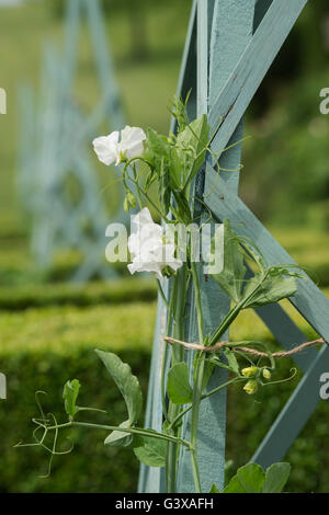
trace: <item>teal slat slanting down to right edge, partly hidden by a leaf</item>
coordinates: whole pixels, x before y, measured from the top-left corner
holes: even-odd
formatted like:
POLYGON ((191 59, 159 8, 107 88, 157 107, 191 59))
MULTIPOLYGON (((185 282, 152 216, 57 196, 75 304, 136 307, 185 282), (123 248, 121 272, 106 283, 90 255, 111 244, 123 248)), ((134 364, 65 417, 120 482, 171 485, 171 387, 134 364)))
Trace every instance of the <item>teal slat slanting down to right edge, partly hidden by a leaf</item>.
MULTIPOLYGON (((232 224, 236 224, 236 231, 251 238, 262 250, 269 263, 296 264, 211 167, 207 169, 206 181, 208 181, 209 194, 204 202, 219 220, 229 218, 232 224)), ((326 341, 329 341, 329 300, 311 279, 298 279, 298 290, 291 301, 308 323, 326 341)))

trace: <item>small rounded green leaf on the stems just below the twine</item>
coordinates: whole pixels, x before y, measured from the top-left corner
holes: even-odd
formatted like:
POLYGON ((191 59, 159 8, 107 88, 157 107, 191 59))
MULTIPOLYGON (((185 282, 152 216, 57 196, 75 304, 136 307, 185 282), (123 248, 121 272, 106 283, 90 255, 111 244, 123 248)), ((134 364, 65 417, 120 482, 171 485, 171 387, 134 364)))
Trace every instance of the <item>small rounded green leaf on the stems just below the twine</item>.
POLYGON ((178 363, 170 368, 167 392, 174 404, 192 402, 193 391, 189 381, 189 367, 185 363, 178 363))

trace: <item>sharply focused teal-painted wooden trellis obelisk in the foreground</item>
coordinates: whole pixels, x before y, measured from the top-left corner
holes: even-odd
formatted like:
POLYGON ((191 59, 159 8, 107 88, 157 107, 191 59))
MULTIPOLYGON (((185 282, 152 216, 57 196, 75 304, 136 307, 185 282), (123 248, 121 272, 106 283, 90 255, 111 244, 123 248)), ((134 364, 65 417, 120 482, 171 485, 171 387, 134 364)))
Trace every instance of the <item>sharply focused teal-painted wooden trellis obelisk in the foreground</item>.
MULTIPOLYGON (((186 91, 189 83, 196 82, 197 113, 209 114, 213 130, 218 128, 218 123, 223 118, 213 141, 214 152, 223 152, 227 145, 241 138, 243 127, 241 116, 305 4, 306 0, 290 2, 258 0, 256 4, 248 0, 194 2, 180 91, 186 91), (243 21, 241 13, 245 15, 243 21), (195 37, 197 38, 196 67, 193 43, 195 37), (190 75, 186 75, 186 70, 190 75)), ((214 158, 207 160, 195 184, 195 192, 203 195, 214 217, 218 221, 229 218, 235 224, 237 232, 248 236, 262 249, 269 263, 294 264, 287 252, 238 197, 238 173, 227 174, 222 171, 218 175, 214 170, 215 162, 214 158)), ((222 168, 237 168, 239 162, 239 146, 220 154, 222 168)), ((197 209, 197 203, 195 207, 197 209)), ((200 279, 205 327, 206 330, 211 330, 227 312, 228 299, 216 290, 212 282, 206 283, 202 274, 200 279)), ((298 281, 298 291, 291 301, 325 341, 328 341, 329 301, 317 286, 309 278, 298 281)), ((194 341, 196 335, 194 311, 191 298, 190 341, 194 341)), ((281 306, 268 306, 256 311, 284 348, 288 350, 305 342, 304 333, 281 306)), ((192 356, 189 357, 190 363, 191 358, 192 356)), ((264 467, 284 457, 319 402, 319 377, 328 369, 329 348, 327 345, 320 352, 309 348, 303 354, 295 355, 294 359, 305 374, 252 458, 264 467)), ((154 360, 152 367, 156 365, 154 360)), ((156 376, 154 370, 151 375, 156 376)), ((218 377, 214 376, 212 380, 217 382, 218 377)), ((201 474, 205 478, 204 491, 208 491, 212 481, 222 487, 224 479, 225 393, 220 393, 216 401, 216 405, 204 402, 201 411, 204 424, 201 423, 200 431, 200 465, 201 474), (212 470, 212 477, 207 474, 208 470, 212 470)), ((159 415, 159 410, 157 413, 159 415)), ((189 436, 189 417, 184 421, 183 435, 189 436)), ((157 487, 163 488, 160 476, 157 487)), ((193 488, 189 454, 182 451, 178 491, 191 492, 193 488)), ((140 491, 145 490, 141 488, 140 491)))

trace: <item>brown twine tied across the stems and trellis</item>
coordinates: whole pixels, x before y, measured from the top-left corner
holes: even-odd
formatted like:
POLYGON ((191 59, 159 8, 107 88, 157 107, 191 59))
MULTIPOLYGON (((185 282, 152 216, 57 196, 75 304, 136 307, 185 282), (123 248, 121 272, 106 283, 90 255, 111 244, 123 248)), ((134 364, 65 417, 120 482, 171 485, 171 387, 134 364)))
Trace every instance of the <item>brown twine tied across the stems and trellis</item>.
MULTIPOLYGON (((204 346, 201 345, 200 343, 188 343, 188 342, 182 342, 181 340, 175 340, 174 337, 169 337, 164 336, 163 340, 170 344, 172 343, 178 343, 180 345, 183 345, 185 348, 193 348, 194 351, 201 351, 201 352, 216 352, 219 351, 222 347, 230 347, 231 351, 242 351, 247 354, 252 354, 253 356, 259 356, 259 357, 269 357, 269 354, 264 352, 257 351, 256 348, 249 348, 249 347, 234 347, 230 346, 230 342, 228 341, 223 341, 223 342, 217 342, 215 345, 211 346, 204 346)), ((283 351, 283 352, 276 352, 273 353, 273 357, 286 357, 286 356, 292 356, 293 354, 297 354, 300 351, 304 351, 307 347, 311 347, 314 345, 318 344, 324 344, 326 343, 324 339, 319 337, 318 340, 314 340, 313 342, 305 342, 302 343, 302 345, 298 345, 297 347, 292 348, 291 351, 283 351)))

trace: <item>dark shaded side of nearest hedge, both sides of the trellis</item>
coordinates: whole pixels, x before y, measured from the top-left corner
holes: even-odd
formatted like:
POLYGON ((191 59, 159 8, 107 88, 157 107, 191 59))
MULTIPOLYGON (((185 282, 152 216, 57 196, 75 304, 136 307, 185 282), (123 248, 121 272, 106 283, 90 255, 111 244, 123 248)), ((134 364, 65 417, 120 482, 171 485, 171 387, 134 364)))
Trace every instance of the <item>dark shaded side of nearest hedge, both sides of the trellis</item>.
MULTIPOLYGON (((148 342, 150 344, 150 342, 148 342)), ((99 345, 111 350, 111 345, 99 345)), ((120 352, 132 365, 144 392, 147 389, 149 351, 136 341, 120 352)), ((290 375, 292 363, 280 362, 280 373, 273 379, 290 375)), ((48 392, 45 409, 59 421, 65 420, 61 389, 69 378, 82 384, 81 403, 107 410, 107 414, 82 414, 83 420, 118 423, 125 416, 124 402, 105 368, 91 346, 72 347, 68 352, 44 350, 7 350, 0 355, 0 369, 8 376, 8 400, 0 411, 0 492, 133 492, 136 490, 138 464, 129 449, 105 448, 105 432, 75 430, 61 435, 63 445, 70 435, 75 443, 68 456, 55 457, 49 479, 47 456, 36 448, 13 448, 20 440, 31 442, 31 417, 37 414, 34 392, 48 392)), ((300 375, 292 382, 271 386, 258 399, 248 397, 240 388, 228 393, 227 459, 232 460, 231 472, 246 464, 280 412, 300 375)), ((291 492, 328 492, 329 449, 327 446, 329 405, 321 402, 299 438, 288 453, 293 473, 287 490, 291 492)))

